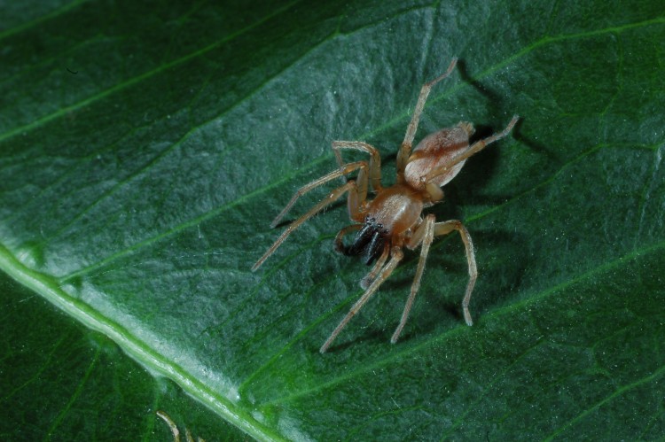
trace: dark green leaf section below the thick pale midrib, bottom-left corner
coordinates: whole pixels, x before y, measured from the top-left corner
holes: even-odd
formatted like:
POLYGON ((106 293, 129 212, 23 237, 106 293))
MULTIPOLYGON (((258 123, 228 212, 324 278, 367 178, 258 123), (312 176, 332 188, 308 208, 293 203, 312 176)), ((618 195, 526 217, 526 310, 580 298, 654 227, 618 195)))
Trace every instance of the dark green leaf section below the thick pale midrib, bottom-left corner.
POLYGON ((242 433, 162 376, 151 376, 107 337, 82 330, 34 292, 0 274, 3 348, 0 435, 7 440, 168 440, 155 412, 179 430, 242 433))

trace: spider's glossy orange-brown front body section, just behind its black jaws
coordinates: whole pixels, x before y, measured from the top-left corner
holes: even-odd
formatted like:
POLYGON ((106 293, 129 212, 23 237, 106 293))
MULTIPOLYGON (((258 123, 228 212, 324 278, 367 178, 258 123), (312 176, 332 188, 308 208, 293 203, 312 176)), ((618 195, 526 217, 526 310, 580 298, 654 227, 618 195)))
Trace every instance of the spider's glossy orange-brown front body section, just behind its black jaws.
POLYGON ((384 229, 395 236, 411 229, 423 211, 423 199, 420 192, 403 184, 382 189, 372 200, 367 215, 383 225, 384 229))

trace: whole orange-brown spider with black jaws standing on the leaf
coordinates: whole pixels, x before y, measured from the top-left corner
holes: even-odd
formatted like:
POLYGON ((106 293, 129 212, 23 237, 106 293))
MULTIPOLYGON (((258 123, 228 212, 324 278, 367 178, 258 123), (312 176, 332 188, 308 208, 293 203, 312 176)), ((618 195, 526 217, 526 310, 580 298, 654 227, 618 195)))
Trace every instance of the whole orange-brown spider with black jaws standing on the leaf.
POLYGON ((462 121, 453 128, 443 128, 426 136, 411 152, 411 143, 413 143, 413 138, 416 135, 420 114, 423 112, 430 90, 436 83, 452 73, 457 62, 458 59, 453 58, 444 74, 424 84, 420 89, 418 104, 406 129, 402 146, 397 152, 397 180, 394 185, 390 187, 381 185, 379 151, 370 144, 359 141, 335 141, 332 142, 332 151, 334 151, 335 158, 340 166, 339 169, 309 182, 309 184, 296 191, 284 210, 278 214, 270 225, 274 228, 295 204, 296 200, 309 190, 313 190, 336 178, 344 177, 356 170, 358 171, 355 180, 348 180, 341 187, 332 190, 326 198, 312 207, 309 212, 293 221, 252 268, 253 271, 259 268, 263 261, 268 259, 279 245, 286 240, 286 237, 291 235, 293 230, 301 226, 303 222, 308 221, 309 218, 345 193, 348 194, 348 214, 351 220, 356 223, 341 229, 337 234, 335 238, 336 250, 347 256, 364 255, 365 264, 368 266, 372 262, 376 262, 360 283, 364 289, 363 296, 356 301, 356 304, 351 307, 337 328, 332 331, 330 337, 326 339, 319 350, 321 353, 325 353, 351 318, 379 289, 381 283, 386 281, 393 273, 403 259, 403 247, 414 250, 420 246, 420 259, 411 285, 411 293, 406 301, 406 306, 404 306, 399 326, 390 339, 390 342, 395 344, 400 333, 402 333, 413 300, 418 293, 430 244, 432 244, 434 237, 447 235, 453 231, 459 232, 465 245, 469 282, 466 285, 464 299, 462 299, 462 312, 466 324, 473 325, 469 313, 469 300, 471 299, 473 285, 478 277, 478 269, 475 264, 471 236, 461 221, 436 222, 434 214, 423 215, 423 208, 441 202, 443 199, 441 187, 459 173, 466 159, 484 149, 489 143, 494 143, 507 136, 519 117, 515 115, 503 131, 477 141, 471 146, 469 145, 469 136, 473 135, 473 125, 462 121), (341 150, 343 149, 368 153, 370 155, 369 162, 344 163, 341 158, 341 150), (367 199, 370 184, 372 184, 372 190, 376 193, 372 200, 367 199), (345 245, 342 238, 352 231, 357 231, 356 239, 351 245, 345 245))

